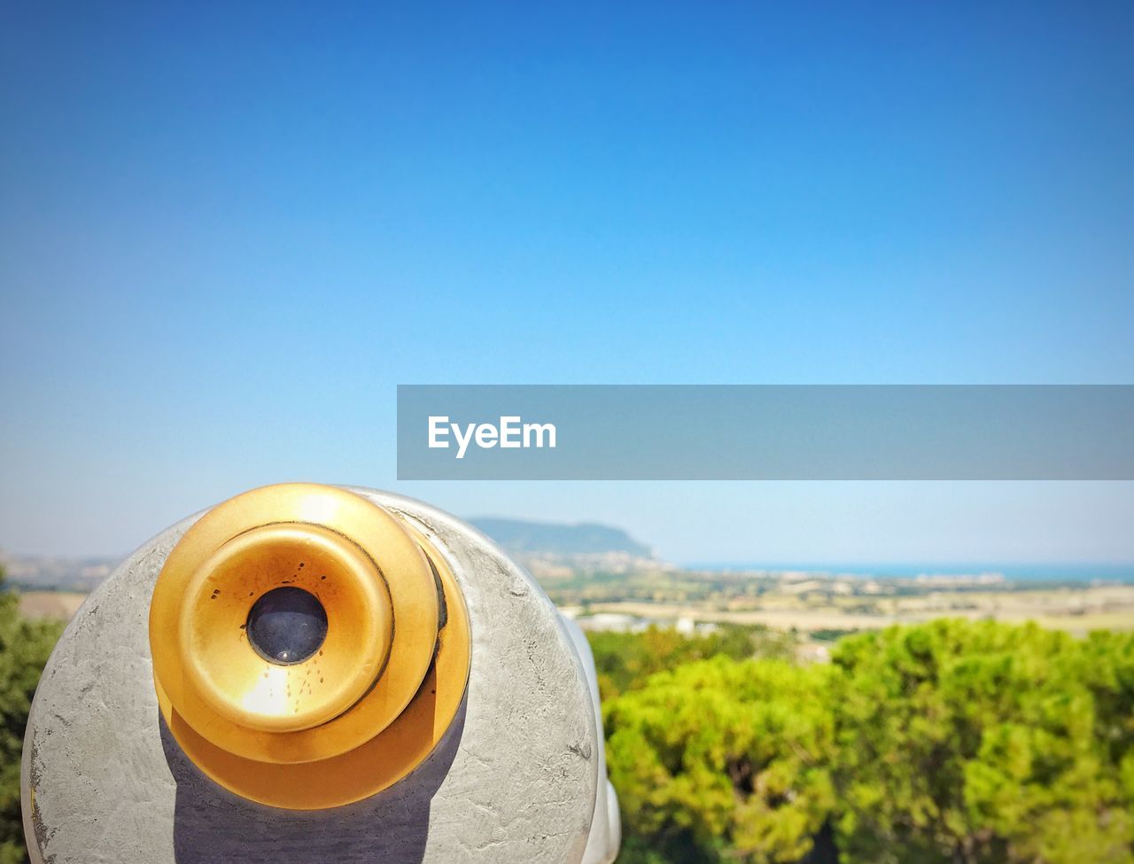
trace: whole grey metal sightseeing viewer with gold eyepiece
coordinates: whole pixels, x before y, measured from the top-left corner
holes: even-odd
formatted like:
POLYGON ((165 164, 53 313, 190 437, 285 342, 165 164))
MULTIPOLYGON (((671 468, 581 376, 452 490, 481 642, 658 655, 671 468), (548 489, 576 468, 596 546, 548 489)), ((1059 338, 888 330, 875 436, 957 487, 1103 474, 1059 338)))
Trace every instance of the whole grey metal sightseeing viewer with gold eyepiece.
POLYGON ((27 726, 35 864, 610 862, 594 661, 474 528, 266 486, 86 601, 27 726))

